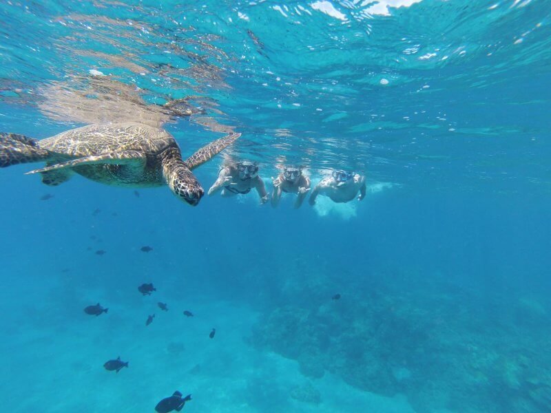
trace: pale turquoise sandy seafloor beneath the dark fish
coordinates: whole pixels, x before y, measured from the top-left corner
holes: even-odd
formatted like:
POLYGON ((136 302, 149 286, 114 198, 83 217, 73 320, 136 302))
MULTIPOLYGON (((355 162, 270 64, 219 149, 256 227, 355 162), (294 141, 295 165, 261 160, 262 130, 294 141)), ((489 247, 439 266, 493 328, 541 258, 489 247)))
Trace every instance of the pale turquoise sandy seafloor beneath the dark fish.
MULTIPOLYGON (((154 299, 144 297, 144 307, 152 308, 154 299)), ((170 308, 148 328, 120 306, 110 308, 118 315, 82 315, 53 332, 48 324, 19 328, 17 340, 1 344, 1 352, 10 354, 2 369, 4 391, 10 394, 3 408, 145 412, 153 411, 159 395, 179 389, 193 394, 185 406, 189 412, 414 412, 403 397, 362 392, 331 374, 306 379, 296 361, 251 348, 243 337, 250 334, 256 315, 245 306, 227 301, 205 306, 201 300, 189 301, 189 306, 196 317, 183 319, 170 308), (210 340, 206 327, 215 320, 224 328, 210 340), (114 330, 117 337, 109 334, 114 330), (129 368, 106 372, 103 363, 118 354, 129 368), (289 397, 306 383, 322 394, 319 404, 289 397)))

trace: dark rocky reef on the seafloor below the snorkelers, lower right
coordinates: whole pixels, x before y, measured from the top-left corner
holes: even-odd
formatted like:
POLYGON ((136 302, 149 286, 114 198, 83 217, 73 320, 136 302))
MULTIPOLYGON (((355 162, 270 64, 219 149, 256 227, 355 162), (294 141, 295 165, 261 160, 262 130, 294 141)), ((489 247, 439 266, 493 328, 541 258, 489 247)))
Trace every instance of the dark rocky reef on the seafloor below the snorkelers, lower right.
POLYGON ((307 278, 286 286, 287 302, 251 337, 297 360, 304 376, 331 372, 370 392, 406 394, 419 413, 549 412, 550 319, 539 301, 512 304, 422 277, 357 282, 331 299, 334 279, 307 278))

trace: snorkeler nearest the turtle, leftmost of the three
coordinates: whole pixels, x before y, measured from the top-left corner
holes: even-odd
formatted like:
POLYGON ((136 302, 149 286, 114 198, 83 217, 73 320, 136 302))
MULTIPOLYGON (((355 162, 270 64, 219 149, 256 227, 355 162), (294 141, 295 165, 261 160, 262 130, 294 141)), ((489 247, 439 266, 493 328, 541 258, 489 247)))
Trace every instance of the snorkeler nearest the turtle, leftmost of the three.
POLYGON ((268 202, 268 193, 264 187, 264 181, 258 176, 256 162, 242 161, 236 164, 226 165, 218 172, 218 179, 209 189, 209 195, 222 189, 224 197, 249 193, 255 188, 260 196, 260 204, 268 202))

